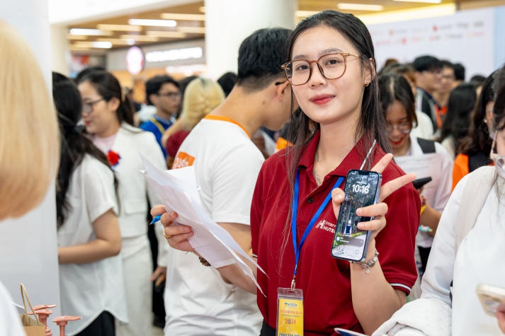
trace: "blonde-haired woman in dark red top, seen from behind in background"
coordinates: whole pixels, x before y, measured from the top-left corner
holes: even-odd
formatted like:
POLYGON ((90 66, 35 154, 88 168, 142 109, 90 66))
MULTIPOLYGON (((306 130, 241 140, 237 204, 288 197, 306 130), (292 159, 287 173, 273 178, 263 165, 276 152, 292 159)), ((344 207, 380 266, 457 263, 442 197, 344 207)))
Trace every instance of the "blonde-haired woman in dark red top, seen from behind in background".
POLYGON ((166 166, 171 168, 182 141, 200 120, 225 99, 221 86, 211 79, 193 79, 184 92, 181 117, 166 129, 161 144, 166 146, 166 166))

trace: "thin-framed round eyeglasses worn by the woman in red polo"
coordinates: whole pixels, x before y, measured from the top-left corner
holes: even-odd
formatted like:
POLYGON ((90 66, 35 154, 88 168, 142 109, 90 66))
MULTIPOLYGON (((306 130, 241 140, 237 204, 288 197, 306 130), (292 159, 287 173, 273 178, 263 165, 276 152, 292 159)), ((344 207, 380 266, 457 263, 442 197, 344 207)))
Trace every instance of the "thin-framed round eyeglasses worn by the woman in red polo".
POLYGON ((317 64, 319 72, 325 79, 339 79, 346 73, 347 57, 354 56, 348 52, 336 52, 334 54, 324 54, 317 61, 307 59, 296 59, 281 65, 284 69, 286 78, 291 85, 303 85, 310 80, 312 76, 312 64, 317 64))

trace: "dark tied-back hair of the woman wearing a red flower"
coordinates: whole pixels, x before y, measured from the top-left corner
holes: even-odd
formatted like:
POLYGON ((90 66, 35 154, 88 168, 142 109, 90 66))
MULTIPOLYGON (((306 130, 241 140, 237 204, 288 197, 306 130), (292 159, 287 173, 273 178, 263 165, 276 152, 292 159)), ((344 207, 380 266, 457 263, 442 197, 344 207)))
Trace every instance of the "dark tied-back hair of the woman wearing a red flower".
POLYGON ((77 84, 84 83, 85 81, 89 81, 91 86, 96 89, 106 102, 112 98, 117 98, 119 100, 119 107, 116 115, 118 116, 119 123, 127 122, 135 126, 132 102, 126 95, 123 96, 119 81, 113 74, 110 74, 108 71, 93 70, 84 74, 77 84))

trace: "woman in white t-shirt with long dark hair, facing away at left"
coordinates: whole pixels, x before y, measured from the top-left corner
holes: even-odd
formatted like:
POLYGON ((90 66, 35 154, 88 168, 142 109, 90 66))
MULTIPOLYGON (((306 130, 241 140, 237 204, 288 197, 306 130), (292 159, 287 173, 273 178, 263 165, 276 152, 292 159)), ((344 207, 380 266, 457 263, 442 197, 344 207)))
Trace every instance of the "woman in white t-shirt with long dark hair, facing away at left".
POLYGON ((115 319, 127 322, 127 313, 113 170, 77 129, 82 102, 75 84, 53 72, 52 95, 62 138, 56 192, 62 313, 81 316, 65 331, 114 336, 115 319))

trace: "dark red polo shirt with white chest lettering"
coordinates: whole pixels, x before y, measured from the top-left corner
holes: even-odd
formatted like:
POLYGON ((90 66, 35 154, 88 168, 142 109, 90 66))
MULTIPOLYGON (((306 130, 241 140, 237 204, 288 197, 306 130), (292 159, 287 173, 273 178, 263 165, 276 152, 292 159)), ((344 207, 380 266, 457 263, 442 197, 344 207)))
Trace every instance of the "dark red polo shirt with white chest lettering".
MULTIPOLYGON (((358 169, 363 161, 356 146, 344 161, 317 187, 312 167, 319 133, 302 153, 300 196, 297 216, 297 240, 339 176, 358 169)), ((374 163, 384 152, 375 146, 374 163)), ((258 306, 266 323, 276 328, 277 289, 289 287, 293 279, 295 252, 290 229, 290 184, 286 169, 286 151, 271 156, 261 168, 251 205, 252 249, 268 277, 258 272, 258 282, 266 296, 258 292, 258 306)), ((382 173, 387 183, 404 172, 390 163, 382 173)), ((342 188, 344 185, 341 186, 342 188)), ((419 226, 419 194, 412 185, 402 187, 385 199, 389 210, 386 227, 375 238, 379 262, 387 282, 407 294, 416 281, 414 248, 419 226)), ((322 212, 300 253, 296 287, 303 289, 305 335, 336 335, 334 328, 363 332, 353 311, 349 263, 331 257, 331 241, 336 218, 331 202, 322 212)), ((364 272, 364 271, 363 271, 364 272)), ((363 288, 363 291, 368 290, 363 288)))

